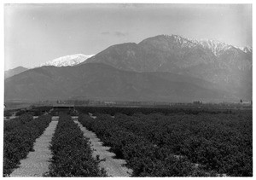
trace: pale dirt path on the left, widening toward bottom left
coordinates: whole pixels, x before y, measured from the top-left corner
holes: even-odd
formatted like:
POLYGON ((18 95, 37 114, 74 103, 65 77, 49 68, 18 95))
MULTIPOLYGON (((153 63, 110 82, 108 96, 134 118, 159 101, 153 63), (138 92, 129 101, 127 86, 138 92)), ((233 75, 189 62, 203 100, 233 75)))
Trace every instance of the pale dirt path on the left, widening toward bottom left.
POLYGON ((34 142, 34 150, 30 152, 25 160, 20 160, 20 167, 15 169, 10 177, 43 177, 47 172, 51 152, 49 150, 49 142, 55 132, 57 118, 53 117, 49 126, 45 129, 43 135, 39 136, 34 142))

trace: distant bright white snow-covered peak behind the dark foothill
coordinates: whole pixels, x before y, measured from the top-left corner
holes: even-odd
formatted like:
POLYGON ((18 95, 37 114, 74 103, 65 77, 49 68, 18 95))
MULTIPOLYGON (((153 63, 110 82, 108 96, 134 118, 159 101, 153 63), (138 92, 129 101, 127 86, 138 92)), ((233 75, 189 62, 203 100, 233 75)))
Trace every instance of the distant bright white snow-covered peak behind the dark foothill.
POLYGON ((55 67, 75 66, 83 61, 86 61, 91 56, 92 55, 82 55, 82 54, 66 55, 66 56, 56 58, 52 61, 46 61, 43 64, 41 64, 39 67, 43 67, 43 66, 55 66, 55 67))

